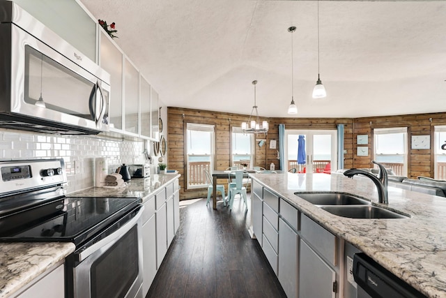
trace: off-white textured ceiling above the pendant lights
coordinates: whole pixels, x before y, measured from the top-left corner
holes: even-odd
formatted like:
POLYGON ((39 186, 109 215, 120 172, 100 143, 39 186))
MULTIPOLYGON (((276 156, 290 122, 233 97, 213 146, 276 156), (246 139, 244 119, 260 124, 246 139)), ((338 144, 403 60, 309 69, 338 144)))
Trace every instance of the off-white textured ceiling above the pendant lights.
POLYGON ((317 1, 80 1, 167 106, 291 117, 293 38, 297 117, 446 111, 446 1, 319 1, 323 99, 317 1))

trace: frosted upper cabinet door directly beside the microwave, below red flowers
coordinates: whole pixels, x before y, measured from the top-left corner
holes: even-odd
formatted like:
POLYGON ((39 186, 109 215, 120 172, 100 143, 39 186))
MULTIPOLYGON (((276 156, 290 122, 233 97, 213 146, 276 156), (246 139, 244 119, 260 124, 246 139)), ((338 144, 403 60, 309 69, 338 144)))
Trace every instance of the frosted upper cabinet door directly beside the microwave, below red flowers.
POLYGON ((100 32, 100 66, 110 74, 110 128, 123 129, 123 53, 112 38, 100 32))

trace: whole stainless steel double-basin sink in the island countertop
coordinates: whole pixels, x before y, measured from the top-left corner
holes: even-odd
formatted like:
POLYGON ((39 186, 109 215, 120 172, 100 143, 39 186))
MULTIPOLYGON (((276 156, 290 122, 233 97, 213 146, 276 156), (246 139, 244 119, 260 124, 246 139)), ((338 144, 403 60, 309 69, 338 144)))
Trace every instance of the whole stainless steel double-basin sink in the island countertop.
POLYGON ((348 218, 408 218, 403 214, 372 206, 371 202, 348 193, 294 193, 331 214, 348 218))

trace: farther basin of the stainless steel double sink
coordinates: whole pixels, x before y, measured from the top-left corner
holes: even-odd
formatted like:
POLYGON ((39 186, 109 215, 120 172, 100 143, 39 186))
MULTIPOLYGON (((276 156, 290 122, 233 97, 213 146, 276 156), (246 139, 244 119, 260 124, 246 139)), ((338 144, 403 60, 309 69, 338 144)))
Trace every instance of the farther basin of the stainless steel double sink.
POLYGON ((312 204, 316 205, 362 205, 369 201, 357 198, 348 193, 294 193, 312 204))

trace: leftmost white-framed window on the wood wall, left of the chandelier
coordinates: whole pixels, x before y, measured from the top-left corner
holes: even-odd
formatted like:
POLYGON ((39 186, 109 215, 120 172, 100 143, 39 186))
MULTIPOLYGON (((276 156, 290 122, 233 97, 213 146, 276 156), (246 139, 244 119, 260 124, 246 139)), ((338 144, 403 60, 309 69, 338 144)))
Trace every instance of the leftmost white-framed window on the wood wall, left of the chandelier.
POLYGON ((214 161, 214 126, 187 124, 187 188, 203 188, 207 185, 203 170, 211 171, 214 161))

